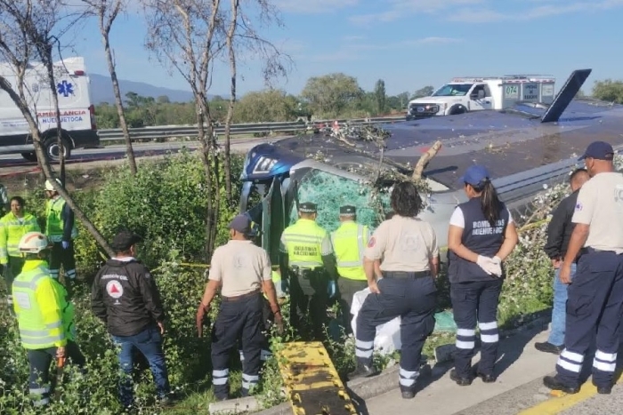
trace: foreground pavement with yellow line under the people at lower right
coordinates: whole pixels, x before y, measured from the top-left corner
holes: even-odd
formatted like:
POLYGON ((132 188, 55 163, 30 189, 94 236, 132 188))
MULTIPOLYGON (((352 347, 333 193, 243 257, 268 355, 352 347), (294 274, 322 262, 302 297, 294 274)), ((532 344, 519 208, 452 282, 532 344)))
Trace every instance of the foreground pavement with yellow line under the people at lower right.
MULTIPOLYGON (((426 415, 615 415, 623 413, 623 385, 611 395, 597 395, 591 379, 576 395, 552 393, 543 386, 543 377, 553 375, 557 355, 538 352, 536 341, 545 341, 547 331, 524 331, 500 343, 497 382, 485 384, 475 379, 469 387, 459 387, 449 379, 451 363, 433 368, 433 376, 418 380, 421 390, 413 400, 401 399, 398 389, 366 401, 365 415, 422 413, 426 415)), ((623 363, 619 350, 619 367, 623 363)), ((478 362, 478 356, 473 360, 478 362)), ((592 358, 585 371, 590 374, 592 358)), ((396 383, 398 379, 396 379, 396 383)))

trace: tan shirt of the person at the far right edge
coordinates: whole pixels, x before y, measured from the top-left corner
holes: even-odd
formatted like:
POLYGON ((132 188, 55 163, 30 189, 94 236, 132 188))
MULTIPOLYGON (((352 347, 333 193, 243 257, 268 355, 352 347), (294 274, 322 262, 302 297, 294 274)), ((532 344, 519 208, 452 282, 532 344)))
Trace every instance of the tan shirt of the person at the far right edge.
POLYGON ((584 246, 623 253, 623 174, 596 174, 579 189, 573 223, 589 225, 584 246))

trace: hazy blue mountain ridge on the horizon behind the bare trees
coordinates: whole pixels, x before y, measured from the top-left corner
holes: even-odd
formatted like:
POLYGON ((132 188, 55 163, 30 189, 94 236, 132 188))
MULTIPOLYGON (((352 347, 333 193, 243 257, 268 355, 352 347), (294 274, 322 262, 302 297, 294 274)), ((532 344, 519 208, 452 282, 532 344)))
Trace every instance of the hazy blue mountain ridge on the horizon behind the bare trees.
MULTIPOLYGON (((112 93, 112 81, 110 81, 110 77, 98 74, 89 74, 89 77, 91 78, 91 98, 93 103, 114 103, 115 95, 112 93)), ((123 79, 119 79, 119 88, 121 89, 121 96, 124 99, 127 92, 135 92, 142 97, 158 98, 166 95, 169 97, 171 102, 188 102, 192 100, 192 92, 190 91, 173 90, 170 88, 145 84, 143 82, 125 81, 123 79)), ((208 100, 211 100, 212 98, 214 98, 213 95, 208 95, 208 100)))

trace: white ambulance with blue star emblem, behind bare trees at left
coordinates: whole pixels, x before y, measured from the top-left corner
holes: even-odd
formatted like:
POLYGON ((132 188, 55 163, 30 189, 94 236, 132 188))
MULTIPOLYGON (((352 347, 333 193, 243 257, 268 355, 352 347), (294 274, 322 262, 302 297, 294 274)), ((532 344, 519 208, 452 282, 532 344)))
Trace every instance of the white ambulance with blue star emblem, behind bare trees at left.
MULTIPOLYGON (((0 76, 17 92, 15 69, 0 63, 0 76)), ((47 70, 40 62, 29 65, 24 76, 24 92, 28 107, 36 116, 42 132, 47 156, 56 161, 60 156, 57 144, 56 108, 47 70)), ((95 108, 91 102, 89 77, 83 58, 67 58, 54 62, 54 84, 61 110, 61 138, 68 159, 74 148, 98 147, 100 137, 95 125, 95 108)), ((36 161, 35 148, 26 118, 15 106, 7 92, 0 90, 0 153, 21 153, 25 159, 36 161)))

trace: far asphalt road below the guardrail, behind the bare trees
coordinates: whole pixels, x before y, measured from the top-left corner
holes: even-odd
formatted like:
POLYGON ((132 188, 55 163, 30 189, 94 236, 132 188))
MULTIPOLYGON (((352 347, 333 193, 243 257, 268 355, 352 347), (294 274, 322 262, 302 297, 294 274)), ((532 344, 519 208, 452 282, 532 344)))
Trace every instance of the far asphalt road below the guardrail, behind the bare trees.
MULTIPOLYGON (((284 137, 279 137, 282 139, 284 137)), ((247 151, 257 144, 279 139, 240 139, 231 140, 231 151, 237 153, 247 153, 247 151)), ((134 143, 134 156, 137 158, 164 156, 167 153, 177 152, 182 148, 199 148, 197 141, 177 141, 164 143, 134 143)), ((66 162, 68 168, 87 164, 88 167, 109 164, 116 160, 125 158, 125 145, 106 146, 103 148, 78 149, 71 153, 71 157, 66 162)), ((38 170, 36 162, 28 162, 19 154, 2 155, 0 154, 0 176, 20 174, 24 172, 36 172, 38 170)))

